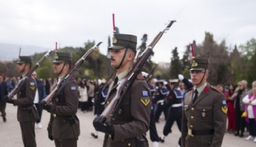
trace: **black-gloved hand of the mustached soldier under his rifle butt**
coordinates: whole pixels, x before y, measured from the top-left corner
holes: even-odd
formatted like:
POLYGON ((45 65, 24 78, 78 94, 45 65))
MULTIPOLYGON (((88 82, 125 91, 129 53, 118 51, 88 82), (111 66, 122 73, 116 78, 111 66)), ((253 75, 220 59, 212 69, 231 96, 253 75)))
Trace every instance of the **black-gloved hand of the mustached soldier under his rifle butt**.
POLYGON ((107 133, 110 135, 114 135, 114 133, 115 133, 114 126, 106 120, 107 120, 107 118, 105 116, 102 116, 102 115, 97 116, 93 120, 93 126, 94 126, 95 130, 103 132, 103 133, 107 133))

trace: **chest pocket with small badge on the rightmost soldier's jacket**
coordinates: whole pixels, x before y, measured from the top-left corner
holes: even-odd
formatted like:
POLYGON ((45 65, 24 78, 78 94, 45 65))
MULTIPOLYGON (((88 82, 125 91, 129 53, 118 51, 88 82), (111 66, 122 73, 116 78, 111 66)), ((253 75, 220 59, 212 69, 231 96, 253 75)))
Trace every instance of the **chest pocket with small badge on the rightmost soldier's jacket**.
POLYGON ((211 121, 213 118, 213 108, 210 106, 198 106, 197 108, 198 118, 203 121, 211 121))

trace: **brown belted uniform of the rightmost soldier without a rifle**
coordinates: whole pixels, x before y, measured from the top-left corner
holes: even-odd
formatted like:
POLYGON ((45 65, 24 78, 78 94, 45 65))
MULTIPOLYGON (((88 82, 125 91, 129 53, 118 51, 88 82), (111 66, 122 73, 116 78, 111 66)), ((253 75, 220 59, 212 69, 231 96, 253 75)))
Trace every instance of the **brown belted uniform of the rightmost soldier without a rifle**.
POLYGON ((185 94, 182 112, 182 146, 221 146, 226 130, 226 101, 207 85, 193 103, 193 89, 185 94))

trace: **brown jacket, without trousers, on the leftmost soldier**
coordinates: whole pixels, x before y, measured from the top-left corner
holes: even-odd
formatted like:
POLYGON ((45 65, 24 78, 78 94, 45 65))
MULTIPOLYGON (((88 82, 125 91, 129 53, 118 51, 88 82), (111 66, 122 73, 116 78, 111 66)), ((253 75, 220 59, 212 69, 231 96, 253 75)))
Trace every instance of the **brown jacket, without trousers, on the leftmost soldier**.
POLYGON ((17 93, 14 105, 18 106, 17 120, 19 122, 35 121, 39 118, 34 106, 35 91, 37 84, 31 76, 25 80, 24 86, 17 93))

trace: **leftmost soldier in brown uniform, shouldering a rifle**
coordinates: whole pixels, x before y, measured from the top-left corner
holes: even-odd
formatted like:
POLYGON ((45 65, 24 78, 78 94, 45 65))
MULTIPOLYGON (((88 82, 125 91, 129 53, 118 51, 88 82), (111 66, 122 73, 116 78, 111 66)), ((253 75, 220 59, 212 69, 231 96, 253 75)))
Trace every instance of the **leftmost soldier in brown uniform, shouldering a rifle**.
MULTIPOLYGON (((19 56, 17 61, 17 70, 24 77, 32 66, 30 56, 19 56)), ((18 106, 17 120, 22 130, 22 141, 25 147, 37 146, 35 143, 35 121, 39 118, 34 106, 36 82, 32 76, 25 80, 25 86, 22 86, 17 94, 17 99, 6 99, 6 102, 18 106)))

